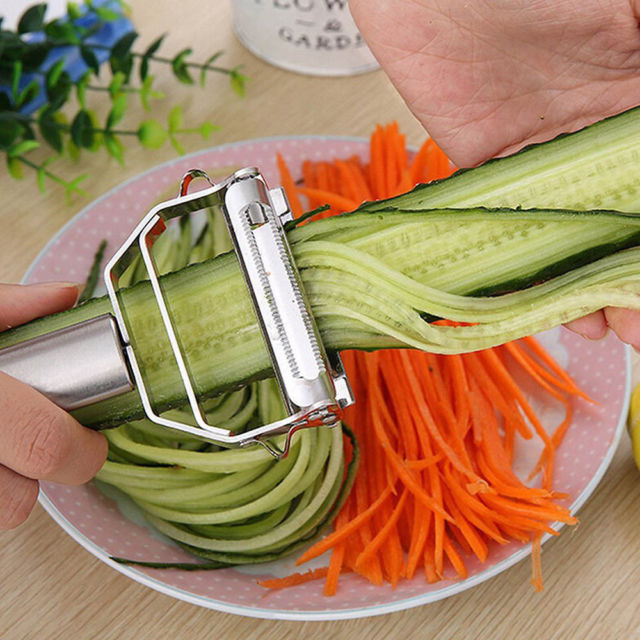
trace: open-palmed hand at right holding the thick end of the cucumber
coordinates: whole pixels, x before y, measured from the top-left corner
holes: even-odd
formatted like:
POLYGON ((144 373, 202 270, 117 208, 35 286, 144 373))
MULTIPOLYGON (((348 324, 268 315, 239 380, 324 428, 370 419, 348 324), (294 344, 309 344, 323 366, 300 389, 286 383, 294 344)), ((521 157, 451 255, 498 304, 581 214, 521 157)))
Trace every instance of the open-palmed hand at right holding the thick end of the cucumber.
MULTIPOLYGON (((640 103, 640 0, 350 0, 380 65, 459 167, 640 103)), ((640 312, 571 322, 640 349, 640 312)))

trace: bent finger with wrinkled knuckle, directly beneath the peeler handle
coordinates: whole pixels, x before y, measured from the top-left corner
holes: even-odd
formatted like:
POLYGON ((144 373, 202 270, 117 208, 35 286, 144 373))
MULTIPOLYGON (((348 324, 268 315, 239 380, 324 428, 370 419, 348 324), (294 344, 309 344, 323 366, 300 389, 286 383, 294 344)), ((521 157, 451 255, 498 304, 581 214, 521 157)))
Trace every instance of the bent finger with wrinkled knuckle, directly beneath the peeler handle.
POLYGON ((82 484, 107 456, 106 438, 0 373, 0 464, 28 478, 82 484))

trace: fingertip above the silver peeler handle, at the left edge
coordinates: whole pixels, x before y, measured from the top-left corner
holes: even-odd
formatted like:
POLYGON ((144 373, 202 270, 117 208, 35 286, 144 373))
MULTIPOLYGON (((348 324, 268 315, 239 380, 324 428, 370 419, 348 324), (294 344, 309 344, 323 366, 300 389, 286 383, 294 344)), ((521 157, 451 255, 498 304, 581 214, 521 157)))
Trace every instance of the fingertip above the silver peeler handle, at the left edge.
POLYGON ((73 282, 0 284, 0 331, 72 307, 80 295, 73 282))

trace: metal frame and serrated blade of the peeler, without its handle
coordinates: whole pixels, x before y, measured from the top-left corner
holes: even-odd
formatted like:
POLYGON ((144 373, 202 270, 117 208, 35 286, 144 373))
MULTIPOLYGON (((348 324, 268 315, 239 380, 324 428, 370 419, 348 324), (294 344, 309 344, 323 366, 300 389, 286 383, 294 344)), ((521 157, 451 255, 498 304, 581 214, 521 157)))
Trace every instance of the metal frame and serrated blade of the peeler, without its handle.
POLYGON ((342 362, 338 354, 329 357, 325 352, 304 294, 284 232, 284 224, 292 219, 284 190, 269 190, 255 168, 241 169, 217 184, 213 184, 204 172, 192 170, 183 178, 180 195, 154 207, 108 262, 104 271, 105 285, 124 352, 150 420, 227 447, 259 443, 280 458, 287 455, 291 438, 298 429, 334 426, 340 419, 341 410, 353 403, 342 362), (189 183, 198 177, 207 179, 211 186, 188 193, 189 183), (220 207, 224 215, 288 412, 282 420, 239 434, 207 422, 151 253, 153 242, 166 229, 165 222, 211 206, 220 207), (162 416, 152 406, 145 376, 129 338, 118 286, 120 276, 136 255, 142 256, 146 266, 172 356, 197 426, 162 416), (282 434, 285 438, 280 448, 272 438, 282 434))

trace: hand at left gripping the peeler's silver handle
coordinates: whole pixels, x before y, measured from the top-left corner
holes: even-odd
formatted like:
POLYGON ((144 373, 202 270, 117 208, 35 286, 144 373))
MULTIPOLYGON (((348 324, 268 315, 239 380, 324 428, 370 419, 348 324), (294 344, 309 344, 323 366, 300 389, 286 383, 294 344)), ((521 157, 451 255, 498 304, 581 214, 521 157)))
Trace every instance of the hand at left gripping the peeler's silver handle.
MULTIPOLYGON (((73 284, 0 284, 0 331, 62 311, 73 284)), ((107 455, 106 438, 86 429, 43 395, 0 372, 0 530, 17 527, 38 497, 38 480, 82 484, 107 455)))

